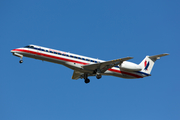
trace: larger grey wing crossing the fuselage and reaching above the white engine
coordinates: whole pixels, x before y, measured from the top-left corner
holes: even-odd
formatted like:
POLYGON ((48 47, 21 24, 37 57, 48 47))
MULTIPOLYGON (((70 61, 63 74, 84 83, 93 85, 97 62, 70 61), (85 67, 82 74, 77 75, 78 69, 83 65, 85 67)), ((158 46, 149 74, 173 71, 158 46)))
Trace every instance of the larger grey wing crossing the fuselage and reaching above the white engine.
POLYGON ((84 70, 88 70, 88 71, 95 71, 98 69, 101 71, 101 73, 104 73, 109 68, 117 66, 117 65, 121 64, 123 61, 129 60, 132 58, 133 57, 125 57, 125 58, 115 59, 115 60, 106 61, 106 62, 102 62, 102 63, 84 65, 84 66, 82 66, 82 68, 84 70))

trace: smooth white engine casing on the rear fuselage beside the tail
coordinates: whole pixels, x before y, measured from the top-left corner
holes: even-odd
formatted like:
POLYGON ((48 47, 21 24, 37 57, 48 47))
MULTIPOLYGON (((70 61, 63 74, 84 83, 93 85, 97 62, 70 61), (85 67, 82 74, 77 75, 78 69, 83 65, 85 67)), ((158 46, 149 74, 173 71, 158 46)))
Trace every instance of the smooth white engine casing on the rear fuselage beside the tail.
POLYGON ((142 68, 135 63, 124 61, 120 65, 120 69, 124 69, 124 70, 128 70, 128 71, 140 71, 142 68))

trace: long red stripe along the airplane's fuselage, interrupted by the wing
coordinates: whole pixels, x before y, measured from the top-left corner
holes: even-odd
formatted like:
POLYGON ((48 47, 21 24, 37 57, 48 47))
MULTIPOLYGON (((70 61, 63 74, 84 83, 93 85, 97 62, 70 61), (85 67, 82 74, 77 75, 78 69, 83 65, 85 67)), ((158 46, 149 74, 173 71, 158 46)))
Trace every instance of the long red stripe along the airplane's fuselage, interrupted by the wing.
MULTIPOLYGON (((31 53, 31 54, 35 54, 35 55, 41 55, 41 56, 49 57, 49 58, 53 58, 53 59, 58 59, 58 60, 78 63, 78 64, 82 64, 82 65, 87 65, 88 64, 88 63, 84 63, 84 62, 79 62, 79 61, 75 61, 75 60, 70 60, 70 59, 66 59, 66 58, 61 58, 61 57, 57 57, 57 56, 53 56, 53 55, 47 55, 47 54, 44 54, 44 53, 38 53, 38 52, 24 50, 24 49, 14 49, 12 51, 26 52, 26 53, 31 53)), ((110 68, 108 70, 112 71, 112 72, 127 74, 127 75, 130 75, 130 76, 136 77, 136 78, 142 78, 142 76, 139 76, 139 75, 136 75, 136 74, 132 74, 132 73, 128 73, 128 72, 124 72, 124 71, 120 71, 120 70, 116 70, 116 69, 112 69, 112 68, 110 68)))

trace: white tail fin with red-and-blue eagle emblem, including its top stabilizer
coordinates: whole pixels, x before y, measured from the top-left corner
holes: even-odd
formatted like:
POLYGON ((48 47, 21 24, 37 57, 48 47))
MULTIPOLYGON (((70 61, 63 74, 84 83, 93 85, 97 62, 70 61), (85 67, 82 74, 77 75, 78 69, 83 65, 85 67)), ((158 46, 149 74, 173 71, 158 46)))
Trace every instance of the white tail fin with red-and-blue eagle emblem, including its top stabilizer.
POLYGON ((154 66, 154 62, 157 59, 160 59, 160 57, 163 57, 163 56, 166 56, 166 55, 169 55, 169 54, 164 53, 164 54, 160 54, 160 55, 146 56, 144 58, 144 60, 139 64, 139 66, 141 66, 141 68, 142 68, 141 72, 150 74, 151 70, 152 70, 152 68, 154 66))

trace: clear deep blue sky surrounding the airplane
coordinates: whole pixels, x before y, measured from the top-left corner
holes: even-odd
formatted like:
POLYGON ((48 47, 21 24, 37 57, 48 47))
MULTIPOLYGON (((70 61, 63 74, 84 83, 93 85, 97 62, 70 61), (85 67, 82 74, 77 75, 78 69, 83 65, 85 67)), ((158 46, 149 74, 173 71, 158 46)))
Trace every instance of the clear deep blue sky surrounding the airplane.
POLYGON ((179 120, 179 0, 0 2, 1 120, 179 120), (170 53, 152 76, 71 80, 73 71, 11 49, 35 44, 112 60, 170 53))

